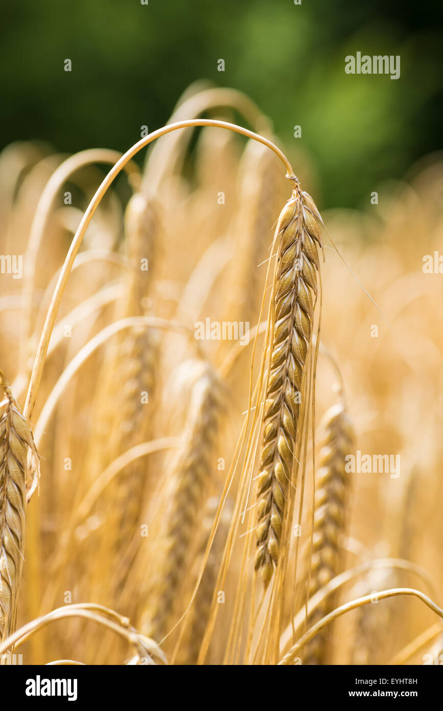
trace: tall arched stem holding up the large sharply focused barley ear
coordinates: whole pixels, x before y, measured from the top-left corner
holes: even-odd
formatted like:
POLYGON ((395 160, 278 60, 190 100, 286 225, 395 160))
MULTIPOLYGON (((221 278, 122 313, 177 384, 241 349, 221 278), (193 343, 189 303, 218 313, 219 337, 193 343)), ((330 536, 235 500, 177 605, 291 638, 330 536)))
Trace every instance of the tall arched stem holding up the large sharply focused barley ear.
POLYGON ((138 151, 140 151, 145 146, 148 146, 148 144, 150 144, 155 139, 160 138, 160 136, 164 136, 165 134, 168 134, 171 131, 176 131, 177 129, 190 126, 214 126, 218 128, 229 129, 230 131, 234 131, 248 138, 255 139, 259 143, 262 143, 264 146, 268 146, 268 148, 274 151, 274 153, 280 158, 286 168, 286 177, 292 181, 297 181, 297 178, 292 171, 292 166, 290 162, 286 158, 283 151, 278 148, 278 146, 275 146, 272 141, 263 138, 263 136, 260 136, 259 134, 256 134, 253 131, 249 131, 248 129, 244 129, 241 126, 237 126, 236 124, 230 124, 225 121, 215 121, 212 119, 190 119, 189 121, 181 121, 175 124, 169 124, 168 126, 164 126, 163 128, 154 131, 152 134, 148 134, 148 136, 138 141, 138 143, 136 143, 128 151, 126 151, 126 153, 121 156, 121 159, 119 159, 119 161, 117 161, 114 167, 109 171, 106 178, 104 178, 104 181, 102 181, 101 185, 97 189, 97 192, 95 193, 94 197, 92 198, 92 201, 89 203, 87 210, 83 215, 82 221, 80 222, 80 225, 77 228, 77 232, 75 232, 74 238, 70 246, 70 250, 67 253, 65 264, 63 264, 62 271, 60 272, 60 277, 58 279, 57 286, 55 287, 53 298, 48 309, 48 314, 46 315, 45 325, 43 326, 43 331, 40 336, 40 343, 38 344, 37 353, 35 355, 33 371, 31 374, 31 380, 29 383, 25 407, 23 410, 23 415, 26 419, 31 420, 31 417, 33 415, 35 398, 37 397, 38 387, 40 385, 43 367, 45 365, 45 357, 48 351, 50 335, 53 331, 55 319, 58 314, 58 308, 60 306, 62 294, 67 284, 67 279, 70 275, 72 264, 82 243, 84 232, 86 232, 87 226, 91 222, 92 216, 97 210, 100 201, 102 200, 112 181, 114 181, 114 178, 116 178, 121 169, 124 168, 126 163, 128 163, 128 161, 130 161, 131 158, 133 158, 133 156, 138 153, 138 151))

